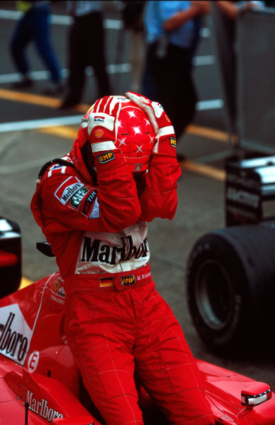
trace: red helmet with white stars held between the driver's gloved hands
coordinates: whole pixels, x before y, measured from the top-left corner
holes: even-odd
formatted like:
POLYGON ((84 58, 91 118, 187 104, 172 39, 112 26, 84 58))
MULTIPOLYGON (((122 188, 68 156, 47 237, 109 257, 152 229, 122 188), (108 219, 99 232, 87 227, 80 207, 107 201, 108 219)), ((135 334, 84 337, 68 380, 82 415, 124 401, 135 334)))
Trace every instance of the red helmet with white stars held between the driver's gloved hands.
MULTIPOLYGON (((145 171, 152 157, 155 145, 155 132, 146 113, 124 96, 114 96, 121 102, 120 112, 116 120, 116 147, 120 148, 131 171, 145 171)), ((92 106, 84 118, 88 118, 92 106)), ((72 149, 72 159, 84 179, 91 178, 93 157, 91 142, 86 128, 80 125, 77 140, 72 149)))

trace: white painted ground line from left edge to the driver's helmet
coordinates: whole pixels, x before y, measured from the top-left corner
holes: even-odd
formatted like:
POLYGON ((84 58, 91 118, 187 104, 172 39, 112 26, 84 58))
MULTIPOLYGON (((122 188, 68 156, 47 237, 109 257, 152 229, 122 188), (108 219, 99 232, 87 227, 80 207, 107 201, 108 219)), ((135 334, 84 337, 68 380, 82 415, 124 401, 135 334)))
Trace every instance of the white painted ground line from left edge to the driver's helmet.
POLYGON ((55 117, 45 118, 43 120, 27 120, 27 121, 15 121, 13 123, 2 123, 0 124, 1 132, 12 132, 12 131, 23 131, 23 130, 35 130, 38 128, 55 127, 60 125, 80 125, 81 113, 79 115, 72 115, 69 117, 55 117))

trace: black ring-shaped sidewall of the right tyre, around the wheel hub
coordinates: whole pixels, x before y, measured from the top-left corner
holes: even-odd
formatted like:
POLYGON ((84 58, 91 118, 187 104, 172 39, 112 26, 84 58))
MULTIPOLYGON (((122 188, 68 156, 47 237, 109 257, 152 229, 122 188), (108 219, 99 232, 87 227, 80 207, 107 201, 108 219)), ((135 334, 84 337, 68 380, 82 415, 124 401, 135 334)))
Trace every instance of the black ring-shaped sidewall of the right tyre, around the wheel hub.
POLYGON ((222 352, 244 343, 249 312, 247 278, 235 250, 225 239, 217 234, 208 234, 196 243, 187 264, 186 289, 193 323, 209 348, 222 352), (213 262, 225 274, 232 291, 230 317, 223 326, 216 328, 203 318, 196 296, 198 273, 203 273, 203 266, 213 262))

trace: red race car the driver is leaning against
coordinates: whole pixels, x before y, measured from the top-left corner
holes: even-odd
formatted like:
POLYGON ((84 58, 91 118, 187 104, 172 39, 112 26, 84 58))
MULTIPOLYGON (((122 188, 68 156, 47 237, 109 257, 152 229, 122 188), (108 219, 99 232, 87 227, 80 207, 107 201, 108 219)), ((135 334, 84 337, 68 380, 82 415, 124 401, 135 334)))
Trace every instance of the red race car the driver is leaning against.
MULTIPOLYGON (((64 335, 66 291, 60 273, 17 290, 20 227, 3 217, 0 264, 0 424, 103 425, 64 335)), ((198 368, 216 424, 275 424, 275 397, 269 385, 200 360, 198 368)), ((145 424, 165 424, 137 385, 145 424)))

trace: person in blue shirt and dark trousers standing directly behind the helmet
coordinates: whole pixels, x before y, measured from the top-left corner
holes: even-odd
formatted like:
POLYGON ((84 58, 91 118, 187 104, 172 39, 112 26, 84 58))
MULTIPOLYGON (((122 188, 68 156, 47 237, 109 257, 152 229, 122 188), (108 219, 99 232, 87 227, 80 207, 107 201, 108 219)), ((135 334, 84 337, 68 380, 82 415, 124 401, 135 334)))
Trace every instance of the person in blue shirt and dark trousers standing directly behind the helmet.
MULTIPOLYGON (((145 7, 147 54, 142 94, 162 103, 178 140, 195 113, 192 60, 201 16, 210 10, 209 1, 147 1, 145 7)), ((184 157, 178 154, 178 159, 184 157)))

